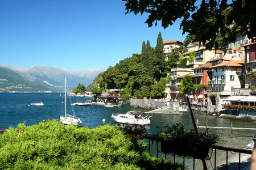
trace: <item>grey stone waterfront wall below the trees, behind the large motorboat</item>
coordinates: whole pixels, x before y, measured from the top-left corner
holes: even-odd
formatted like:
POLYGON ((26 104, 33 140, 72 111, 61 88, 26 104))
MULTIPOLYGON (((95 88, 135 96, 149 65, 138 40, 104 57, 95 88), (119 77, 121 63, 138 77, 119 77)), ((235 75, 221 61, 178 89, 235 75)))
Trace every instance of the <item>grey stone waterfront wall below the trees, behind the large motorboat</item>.
POLYGON ((150 100, 150 99, 133 99, 131 100, 131 107, 143 109, 158 109, 167 106, 165 100, 150 100))

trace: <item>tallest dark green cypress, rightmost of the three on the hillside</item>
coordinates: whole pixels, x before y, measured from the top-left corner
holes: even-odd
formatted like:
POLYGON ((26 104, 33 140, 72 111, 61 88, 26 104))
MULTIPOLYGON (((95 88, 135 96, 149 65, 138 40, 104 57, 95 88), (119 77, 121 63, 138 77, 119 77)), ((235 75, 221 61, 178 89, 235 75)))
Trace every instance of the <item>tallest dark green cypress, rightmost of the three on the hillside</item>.
POLYGON ((163 72, 164 59, 166 58, 166 56, 164 55, 163 39, 162 39, 161 32, 158 33, 158 39, 156 40, 155 54, 156 54, 157 65, 159 66, 160 71, 163 72))

